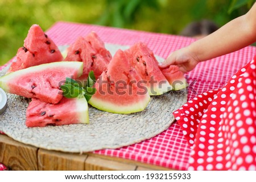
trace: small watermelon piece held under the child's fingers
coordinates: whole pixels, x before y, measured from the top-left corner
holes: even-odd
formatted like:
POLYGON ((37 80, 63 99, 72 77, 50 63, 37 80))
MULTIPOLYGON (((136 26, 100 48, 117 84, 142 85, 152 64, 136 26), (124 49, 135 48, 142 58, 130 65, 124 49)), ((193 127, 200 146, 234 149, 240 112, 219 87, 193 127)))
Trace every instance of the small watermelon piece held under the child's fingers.
POLYGON ((181 90, 188 86, 184 74, 179 70, 178 66, 170 65, 169 67, 161 67, 160 70, 171 84, 173 90, 181 90))

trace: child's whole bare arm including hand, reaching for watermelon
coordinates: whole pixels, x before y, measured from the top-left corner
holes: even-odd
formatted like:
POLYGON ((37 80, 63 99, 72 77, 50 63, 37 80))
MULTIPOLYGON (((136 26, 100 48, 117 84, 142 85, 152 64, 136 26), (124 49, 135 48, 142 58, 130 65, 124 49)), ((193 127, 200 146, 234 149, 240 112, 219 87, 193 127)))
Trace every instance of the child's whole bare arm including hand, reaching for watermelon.
POLYGON ((256 3, 247 14, 230 21, 203 39, 176 50, 159 66, 178 65, 181 71, 187 72, 201 61, 234 52, 255 41, 256 3))

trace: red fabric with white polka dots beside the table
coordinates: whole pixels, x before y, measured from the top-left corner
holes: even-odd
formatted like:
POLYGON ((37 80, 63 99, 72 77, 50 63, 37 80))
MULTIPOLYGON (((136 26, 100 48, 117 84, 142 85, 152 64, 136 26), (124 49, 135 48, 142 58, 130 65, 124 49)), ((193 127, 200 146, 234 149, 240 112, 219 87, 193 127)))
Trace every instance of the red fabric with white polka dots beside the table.
POLYGON ((174 112, 192 146, 188 170, 256 170, 255 60, 174 112))

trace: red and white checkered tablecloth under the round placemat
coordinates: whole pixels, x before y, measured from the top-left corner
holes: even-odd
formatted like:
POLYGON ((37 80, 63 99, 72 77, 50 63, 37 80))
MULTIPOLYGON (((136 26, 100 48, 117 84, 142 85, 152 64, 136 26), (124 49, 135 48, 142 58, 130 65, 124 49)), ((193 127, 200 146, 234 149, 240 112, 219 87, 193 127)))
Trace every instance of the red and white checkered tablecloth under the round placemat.
MULTIPOLYGON (((195 40, 162 33, 68 22, 57 22, 48 29, 47 34, 57 45, 66 45, 73 43, 77 36, 85 36, 91 31, 96 32, 105 43, 133 45, 138 41, 142 41, 156 55, 163 58, 166 58, 172 51, 189 45, 195 40)), ((204 91, 224 86, 238 69, 253 59, 255 54, 256 48, 248 46, 237 52, 214 58, 207 62, 201 62, 196 69, 187 75, 190 85, 188 87, 188 100, 204 91)), ((5 66, 1 66, 0 70, 5 66)), ((187 170, 190 152, 191 148, 177 122, 174 122, 170 128, 158 136, 141 143, 120 149, 94 151, 95 154, 131 159, 176 170, 187 170)))

